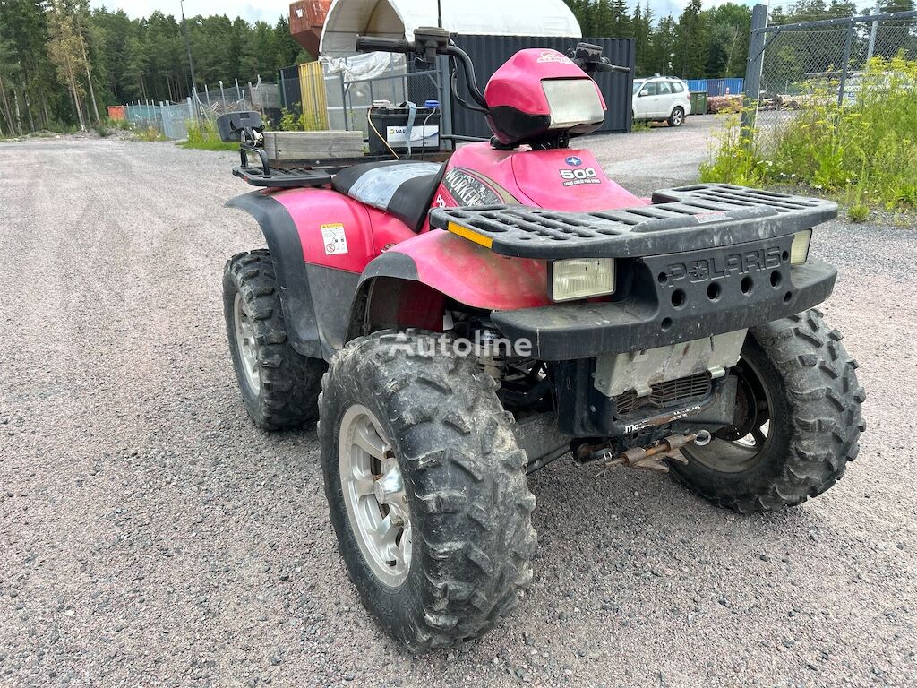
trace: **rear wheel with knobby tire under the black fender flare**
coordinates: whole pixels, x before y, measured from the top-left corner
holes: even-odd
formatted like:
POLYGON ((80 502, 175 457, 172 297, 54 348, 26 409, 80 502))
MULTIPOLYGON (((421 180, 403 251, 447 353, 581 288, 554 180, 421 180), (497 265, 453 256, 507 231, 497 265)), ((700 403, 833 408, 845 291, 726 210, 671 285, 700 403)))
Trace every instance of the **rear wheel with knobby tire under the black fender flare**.
POLYGON ((293 349, 267 250, 226 262, 223 312, 242 401, 255 425, 280 430, 315 421, 327 365, 293 349))

